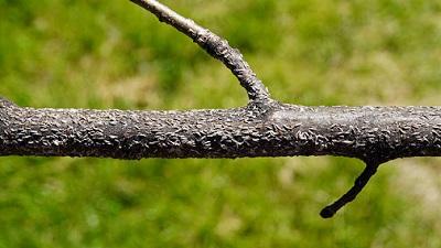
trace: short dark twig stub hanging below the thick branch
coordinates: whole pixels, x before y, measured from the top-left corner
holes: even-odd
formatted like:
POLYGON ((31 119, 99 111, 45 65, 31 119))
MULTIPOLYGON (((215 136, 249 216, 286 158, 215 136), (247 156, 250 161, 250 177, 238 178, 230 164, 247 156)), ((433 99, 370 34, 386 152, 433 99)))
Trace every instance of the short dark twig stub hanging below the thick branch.
POLYGON ((378 165, 379 164, 377 163, 366 163, 365 170, 355 180, 354 185, 346 192, 346 194, 342 195, 342 197, 340 197, 333 204, 324 207, 320 212, 320 216, 323 218, 331 218, 338 209, 354 201, 358 193, 362 192, 362 190, 369 182, 370 177, 377 172, 378 165))

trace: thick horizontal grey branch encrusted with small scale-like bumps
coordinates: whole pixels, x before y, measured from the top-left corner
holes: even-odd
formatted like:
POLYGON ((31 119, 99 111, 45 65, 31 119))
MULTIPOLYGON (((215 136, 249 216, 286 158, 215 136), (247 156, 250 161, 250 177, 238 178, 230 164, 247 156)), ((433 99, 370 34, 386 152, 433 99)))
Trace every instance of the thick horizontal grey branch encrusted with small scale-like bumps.
POLYGON ((131 111, 1 104, 0 155, 243 158, 343 155, 381 163, 441 155, 440 107, 131 111))

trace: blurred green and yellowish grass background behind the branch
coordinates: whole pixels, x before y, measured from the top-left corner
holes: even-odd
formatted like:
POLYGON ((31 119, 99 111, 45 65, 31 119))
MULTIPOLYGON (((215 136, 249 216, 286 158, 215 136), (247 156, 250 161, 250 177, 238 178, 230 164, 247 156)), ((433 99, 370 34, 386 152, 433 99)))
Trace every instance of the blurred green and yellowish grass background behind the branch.
MULTIPOLYGON (((441 2, 164 0, 239 47, 273 97, 439 105, 441 2)), ((21 106, 245 105, 220 63, 128 0, 0 0, 21 106)), ((1 158, 0 247, 441 247, 441 160, 389 162, 333 219, 355 160, 1 158)))

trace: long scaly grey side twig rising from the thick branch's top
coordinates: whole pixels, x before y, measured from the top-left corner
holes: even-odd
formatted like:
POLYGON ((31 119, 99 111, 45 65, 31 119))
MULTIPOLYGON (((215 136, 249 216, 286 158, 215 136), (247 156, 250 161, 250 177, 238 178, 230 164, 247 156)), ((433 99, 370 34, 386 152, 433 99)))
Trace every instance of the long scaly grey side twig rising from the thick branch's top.
POLYGON ((176 30, 193 39, 193 41, 209 55, 222 61, 239 79, 240 85, 247 90, 248 98, 251 101, 270 101, 270 95, 263 83, 257 78, 240 52, 229 46, 226 40, 202 28, 193 20, 180 15, 155 0, 130 1, 157 15, 161 22, 174 26, 176 30))

